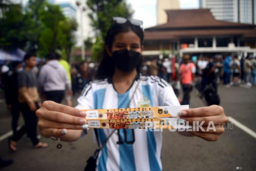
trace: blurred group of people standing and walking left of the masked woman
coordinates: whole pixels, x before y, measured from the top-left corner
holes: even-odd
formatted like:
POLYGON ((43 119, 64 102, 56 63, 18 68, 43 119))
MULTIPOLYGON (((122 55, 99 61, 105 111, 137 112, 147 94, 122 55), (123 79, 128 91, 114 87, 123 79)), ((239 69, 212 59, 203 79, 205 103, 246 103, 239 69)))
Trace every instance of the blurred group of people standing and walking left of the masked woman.
POLYGON ((65 101, 66 105, 72 106, 74 93, 81 93, 95 77, 95 64, 93 67, 89 65, 88 62, 75 62, 70 66, 58 53, 49 53, 40 62, 37 62, 35 54, 27 53, 23 61, 4 63, 1 67, 1 88, 12 115, 13 136, 8 139, 11 151, 17 150, 17 142, 24 134, 31 139, 33 148, 48 147, 47 143, 39 141, 35 111, 41 106, 41 101, 46 100, 65 101), (17 130, 20 113, 24 125, 17 130))

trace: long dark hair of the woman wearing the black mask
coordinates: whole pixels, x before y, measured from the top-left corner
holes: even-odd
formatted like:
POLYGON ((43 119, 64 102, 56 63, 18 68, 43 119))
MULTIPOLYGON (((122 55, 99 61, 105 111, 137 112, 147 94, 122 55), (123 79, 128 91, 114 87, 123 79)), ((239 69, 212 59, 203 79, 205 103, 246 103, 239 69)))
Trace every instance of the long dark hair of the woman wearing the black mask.
MULTIPOLYGON (((104 78, 113 76, 114 71, 115 71, 114 61, 107 54, 107 52, 105 50, 105 46, 108 46, 108 48, 111 50, 115 36, 118 33, 124 33, 124 32, 129 32, 129 31, 133 31, 135 34, 137 34, 141 40, 141 45, 143 45, 144 32, 140 26, 134 26, 129 21, 127 21, 124 24, 117 24, 117 23, 112 24, 110 26, 107 36, 105 38, 103 58, 101 59, 100 65, 98 67, 97 79, 104 79, 104 78)), ((143 61, 141 58, 139 65, 136 67, 136 70, 138 73, 140 73, 140 67, 142 66, 142 62, 143 61)))

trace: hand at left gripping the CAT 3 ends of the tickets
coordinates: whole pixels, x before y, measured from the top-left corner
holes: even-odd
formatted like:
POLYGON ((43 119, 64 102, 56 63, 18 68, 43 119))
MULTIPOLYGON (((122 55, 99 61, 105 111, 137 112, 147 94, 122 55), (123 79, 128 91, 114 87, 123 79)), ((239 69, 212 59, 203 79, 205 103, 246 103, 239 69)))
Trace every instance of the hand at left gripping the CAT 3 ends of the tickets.
POLYGON ((44 101, 36 116, 43 137, 61 137, 68 133, 68 129, 81 130, 82 125, 87 124, 85 111, 54 101, 44 101))

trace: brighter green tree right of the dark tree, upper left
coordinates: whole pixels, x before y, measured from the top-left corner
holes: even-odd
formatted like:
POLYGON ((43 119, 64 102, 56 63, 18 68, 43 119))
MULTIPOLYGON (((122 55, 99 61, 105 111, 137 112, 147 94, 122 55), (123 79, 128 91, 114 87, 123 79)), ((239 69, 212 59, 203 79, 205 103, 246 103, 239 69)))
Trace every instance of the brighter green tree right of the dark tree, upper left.
POLYGON ((43 25, 39 37, 40 54, 45 55, 57 49, 64 50, 66 59, 70 61, 71 50, 75 44, 76 21, 66 18, 59 6, 48 3, 40 7, 39 20, 43 25))

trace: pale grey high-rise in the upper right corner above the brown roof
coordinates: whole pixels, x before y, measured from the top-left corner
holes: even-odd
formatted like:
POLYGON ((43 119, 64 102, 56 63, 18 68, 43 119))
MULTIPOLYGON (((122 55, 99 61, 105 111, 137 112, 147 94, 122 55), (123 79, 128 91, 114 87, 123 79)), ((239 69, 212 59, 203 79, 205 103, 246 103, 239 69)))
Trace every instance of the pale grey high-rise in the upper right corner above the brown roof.
POLYGON ((217 20, 256 24, 256 0, 199 0, 217 20))

